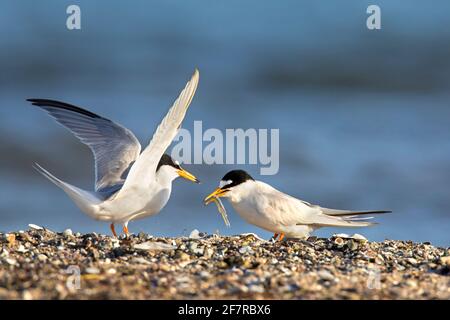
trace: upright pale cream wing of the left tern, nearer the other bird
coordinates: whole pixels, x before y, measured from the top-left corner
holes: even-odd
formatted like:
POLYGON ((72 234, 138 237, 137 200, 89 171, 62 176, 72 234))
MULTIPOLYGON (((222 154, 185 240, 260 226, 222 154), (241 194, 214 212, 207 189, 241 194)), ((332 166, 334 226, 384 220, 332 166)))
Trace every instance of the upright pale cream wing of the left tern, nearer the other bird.
POLYGON ((199 72, 196 69, 191 80, 186 84, 178 99, 159 124, 149 145, 142 151, 142 154, 131 167, 120 192, 125 192, 132 189, 133 186, 141 185, 142 181, 152 181, 159 160, 177 135, 187 108, 194 97, 198 80, 199 72))

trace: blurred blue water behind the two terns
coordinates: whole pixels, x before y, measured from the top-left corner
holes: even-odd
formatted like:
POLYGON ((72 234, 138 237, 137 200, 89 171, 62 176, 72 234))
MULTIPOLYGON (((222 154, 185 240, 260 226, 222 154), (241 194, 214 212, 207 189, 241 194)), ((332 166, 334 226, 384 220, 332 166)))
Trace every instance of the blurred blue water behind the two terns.
MULTIPOLYGON (((82 30, 65 28, 72 1, 0 4, 0 231, 28 223, 108 232, 31 168, 92 188, 89 150, 29 97, 78 104, 130 128, 144 144, 193 71, 200 87, 184 127, 279 128, 280 171, 257 179, 328 207, 392 209, 371 240, 450 234, 448 1, 76 1, 82 30)), ((201 199, 234 168, 192 165, 160 215, 130 224, 156 235, 194 229, 257 232, 228 205, 231 229, 201 199)))

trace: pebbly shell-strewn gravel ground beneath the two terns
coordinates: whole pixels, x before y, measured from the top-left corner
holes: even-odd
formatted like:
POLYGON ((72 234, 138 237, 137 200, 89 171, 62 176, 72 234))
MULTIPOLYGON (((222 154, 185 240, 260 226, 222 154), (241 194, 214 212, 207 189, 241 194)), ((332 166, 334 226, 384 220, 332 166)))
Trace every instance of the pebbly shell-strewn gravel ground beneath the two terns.
POLYGON ((450 249, 345 235, 117 240, 30 225, 0 233, 0 299, 450 299, 450 249))

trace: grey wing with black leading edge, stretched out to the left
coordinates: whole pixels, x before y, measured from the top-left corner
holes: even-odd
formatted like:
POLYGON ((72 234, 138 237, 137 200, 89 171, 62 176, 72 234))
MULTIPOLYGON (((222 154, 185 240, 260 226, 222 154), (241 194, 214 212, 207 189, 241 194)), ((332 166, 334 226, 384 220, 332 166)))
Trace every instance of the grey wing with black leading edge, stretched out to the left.
POLYGON ((141 145, 130 130, 68 103, 48 99, 27 100, 47 111, 92 150, 96 191, 123 184, 129 168, 141 152, 141 145))

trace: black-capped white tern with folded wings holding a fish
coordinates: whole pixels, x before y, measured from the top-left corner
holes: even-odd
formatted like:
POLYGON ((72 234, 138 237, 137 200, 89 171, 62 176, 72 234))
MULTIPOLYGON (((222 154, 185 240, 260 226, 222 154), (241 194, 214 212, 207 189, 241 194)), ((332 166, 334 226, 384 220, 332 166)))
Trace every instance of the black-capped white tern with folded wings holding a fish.
POLYGON ((274 233, 274 238, 307 238, 322 227, 368 227, 371 214, 391 211, 350 211, 323 208, 291 197, 243 170, 228 172, 204 202, 227 198, 234 210, 255 226, 274 233))

